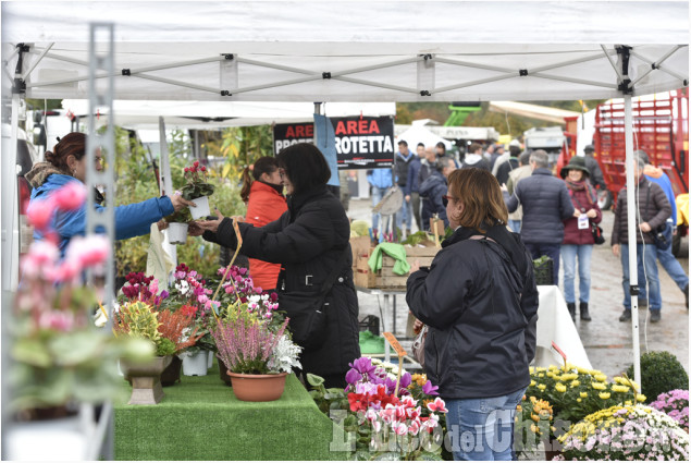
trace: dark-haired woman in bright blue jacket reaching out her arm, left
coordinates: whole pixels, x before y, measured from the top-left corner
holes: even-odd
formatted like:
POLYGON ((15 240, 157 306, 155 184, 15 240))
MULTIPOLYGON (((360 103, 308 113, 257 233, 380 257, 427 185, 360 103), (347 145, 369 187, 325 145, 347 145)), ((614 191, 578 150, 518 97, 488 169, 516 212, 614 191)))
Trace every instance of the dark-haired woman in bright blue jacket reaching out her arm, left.
MULTIPOLYGON (((85 134, 72 132, 59 138, 53 150, 46 151, 46 162, 36 163, 26 174, 26 180, 34 187, 28 209, 30 210, 38 202, 48 199, 54 192, 71 182, 84 184, 86 181, 85 154, 85 134)), ((102 169, 100 154, 96 155, 96 169, 102 169)), ((180 195, 162 196, 119 206, 115 208, 115 239, 123 240, 147 234, 151 223, 158 222, 163 217, 187 206, 194 206, 194 203, 180 195)), ((96 208, 100 210, 102 206, 97 205, 96 208)), ((64 256, 72 236, 86 233, 86 205, 76 210, 55 211, 51 218, 49 230, 57 233, 58 247, 61 255, 64 256)), ((34 240, 44 239, 45 236, 40 231, 34 232, 34 240)))

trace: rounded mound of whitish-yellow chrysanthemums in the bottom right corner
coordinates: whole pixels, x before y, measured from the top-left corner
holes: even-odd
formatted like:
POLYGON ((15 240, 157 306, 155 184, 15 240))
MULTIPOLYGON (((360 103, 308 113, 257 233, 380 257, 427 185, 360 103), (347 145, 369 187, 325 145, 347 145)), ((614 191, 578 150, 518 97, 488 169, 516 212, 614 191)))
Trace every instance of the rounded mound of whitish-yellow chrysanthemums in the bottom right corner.
POLYGON ((559 437, 555 460, 689 460, 689 435, 645 405, 616 405, 588 415, 559 437))

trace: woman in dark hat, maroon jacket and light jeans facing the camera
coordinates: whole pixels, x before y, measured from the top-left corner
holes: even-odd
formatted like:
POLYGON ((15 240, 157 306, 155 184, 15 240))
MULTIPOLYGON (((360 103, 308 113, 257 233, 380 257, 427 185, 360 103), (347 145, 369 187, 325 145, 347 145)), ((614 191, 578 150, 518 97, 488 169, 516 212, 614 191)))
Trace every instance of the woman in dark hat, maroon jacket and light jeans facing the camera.
POLYGON ((566 181, 573 204, 573 217, 564 221, 564 242, 562 260, 564 261, 564 298, 571 318, 576 321, 576 257, 578 256, 578 292, 581 320, 590 321, 588 302, 590 300, 590 260, 593 254, 593 233, 591 223, 600 223, 602 211, 597 206, 595 191, 588 178, 590 171, 582 157, 575 156, 568 166, 562 169, 562 179, 566 181))

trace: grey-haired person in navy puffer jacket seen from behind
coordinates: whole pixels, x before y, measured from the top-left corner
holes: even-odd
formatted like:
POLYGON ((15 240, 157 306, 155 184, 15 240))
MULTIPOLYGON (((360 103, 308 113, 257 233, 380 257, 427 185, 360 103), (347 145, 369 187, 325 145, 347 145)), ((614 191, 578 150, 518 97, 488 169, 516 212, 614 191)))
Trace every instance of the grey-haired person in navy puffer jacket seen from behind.
POLYGON ((547 168, 547 154, 538 149, 530 155, 532 174, 518 182, 509 197, 505 187, 504 199, 509 212, 523 207, 520 236, 533 259, 548 256, 554 263, 553 283, 559 284, 559 254, 564 241, 563 220, 573 215, 573 204, 563 180, 547 168))

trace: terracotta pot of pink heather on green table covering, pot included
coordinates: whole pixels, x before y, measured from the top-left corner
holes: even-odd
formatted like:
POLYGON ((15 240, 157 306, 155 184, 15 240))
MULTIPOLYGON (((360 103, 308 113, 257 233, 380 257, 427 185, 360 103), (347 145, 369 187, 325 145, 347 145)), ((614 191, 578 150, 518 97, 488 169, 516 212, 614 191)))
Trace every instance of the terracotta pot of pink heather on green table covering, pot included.
POLYGON ((283 394, 285 377, 298 361, 301 348, 288 338, 286 318, 276 331, 246 305, 230 310, 211 327, 218 356, 227 367, 238 400, 268 402, 283 394))

